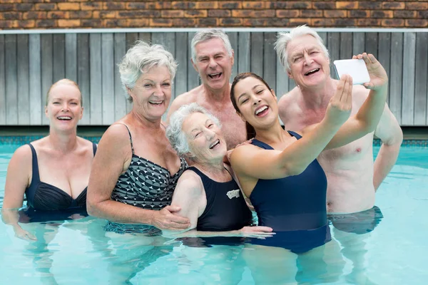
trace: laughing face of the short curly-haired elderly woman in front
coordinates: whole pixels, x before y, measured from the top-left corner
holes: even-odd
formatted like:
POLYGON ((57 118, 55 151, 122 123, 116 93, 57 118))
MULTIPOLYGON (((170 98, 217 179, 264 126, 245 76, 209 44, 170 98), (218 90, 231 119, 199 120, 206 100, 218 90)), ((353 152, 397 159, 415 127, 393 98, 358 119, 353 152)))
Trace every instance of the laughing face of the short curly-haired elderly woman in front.
POLYGON ((190 152, 198 161, 223 159, 227 145, 218 125, 203 113, 193 113, 183 122, 190 152))

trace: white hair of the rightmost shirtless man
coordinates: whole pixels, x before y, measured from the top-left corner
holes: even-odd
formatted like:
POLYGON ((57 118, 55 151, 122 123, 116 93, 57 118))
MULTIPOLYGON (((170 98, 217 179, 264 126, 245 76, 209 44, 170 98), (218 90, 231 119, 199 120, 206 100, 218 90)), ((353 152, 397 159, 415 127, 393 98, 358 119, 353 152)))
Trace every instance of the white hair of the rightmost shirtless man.
POLYGON ((324 41, 322 41, 320 35, 318 35, 318 33, 313 28, 310 28, 306 25, 297 26, 296 28, 292 28, 290 33, 278 33, 277 41, 275 42, 275 50, 277 51, 277 56, 280 58, 280 62, 284 67, 285 72, 291 70, 290 63, 288 62, 288 43, 290 43, 290 41, 295 38, 306 35, 313 36, 321 46, 322 52, 327 58, 329 58, 327 48, 325 47, 324 41))

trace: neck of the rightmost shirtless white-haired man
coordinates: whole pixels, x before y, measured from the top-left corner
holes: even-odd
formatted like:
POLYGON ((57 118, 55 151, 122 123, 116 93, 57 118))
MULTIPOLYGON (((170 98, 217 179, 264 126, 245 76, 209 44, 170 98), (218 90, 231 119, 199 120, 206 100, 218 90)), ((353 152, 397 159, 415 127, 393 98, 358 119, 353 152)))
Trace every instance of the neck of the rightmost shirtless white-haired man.
POLYGON ((300 87, 302 93, 302 102, 308 109, 327 108, 330 99, 335 95, 335 81, 332 78, 327 78, 327 81, 322 86, 315 88, 300 87))

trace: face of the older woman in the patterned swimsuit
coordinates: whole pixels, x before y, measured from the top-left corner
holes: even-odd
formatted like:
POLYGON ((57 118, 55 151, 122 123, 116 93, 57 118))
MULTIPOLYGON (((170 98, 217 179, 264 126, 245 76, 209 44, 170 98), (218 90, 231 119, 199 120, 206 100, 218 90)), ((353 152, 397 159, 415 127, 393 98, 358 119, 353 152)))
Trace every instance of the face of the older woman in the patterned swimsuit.
POLYGON ((158 119, 168 108, 171 98, 171 76, 166 66, 153 66, 128 90, 138 112, 146 118, 158 119))

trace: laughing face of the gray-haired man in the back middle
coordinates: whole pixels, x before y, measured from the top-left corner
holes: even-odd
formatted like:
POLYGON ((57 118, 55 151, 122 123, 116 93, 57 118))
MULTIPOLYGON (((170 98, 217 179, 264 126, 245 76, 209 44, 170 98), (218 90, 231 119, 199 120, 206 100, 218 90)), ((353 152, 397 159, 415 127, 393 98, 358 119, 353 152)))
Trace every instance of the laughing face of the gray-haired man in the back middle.
POLYGON ((198 71, 205 86, 213 90, 229 88, 232 74, 233 55, 229 56, 221 38, 211 38, 195 46, 196 61, 193 67, 198 71))

